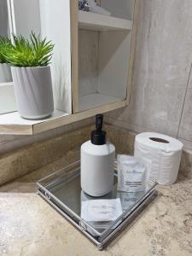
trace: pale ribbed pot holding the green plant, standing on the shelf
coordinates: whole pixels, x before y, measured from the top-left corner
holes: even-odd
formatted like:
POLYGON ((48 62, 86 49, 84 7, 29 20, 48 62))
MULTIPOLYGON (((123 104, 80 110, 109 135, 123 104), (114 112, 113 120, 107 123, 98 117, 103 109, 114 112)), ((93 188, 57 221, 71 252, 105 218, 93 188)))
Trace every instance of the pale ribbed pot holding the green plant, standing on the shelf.
POLYGON ((50 67, 11 67, 20 116, 44 119, 54 110, 50 67))

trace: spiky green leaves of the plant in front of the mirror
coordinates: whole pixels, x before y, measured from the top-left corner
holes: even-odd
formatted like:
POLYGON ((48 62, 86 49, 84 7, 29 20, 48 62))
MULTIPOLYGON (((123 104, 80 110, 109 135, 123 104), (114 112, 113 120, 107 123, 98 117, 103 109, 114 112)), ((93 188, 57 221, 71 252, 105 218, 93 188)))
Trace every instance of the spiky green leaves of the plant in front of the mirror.
POLYGON ((50 63, 53 49, 51 41, 32 32, 29 40, 21 35, 13 36, 12 47, 6 51, 5 58, 15 67, 45 67, 50 63))

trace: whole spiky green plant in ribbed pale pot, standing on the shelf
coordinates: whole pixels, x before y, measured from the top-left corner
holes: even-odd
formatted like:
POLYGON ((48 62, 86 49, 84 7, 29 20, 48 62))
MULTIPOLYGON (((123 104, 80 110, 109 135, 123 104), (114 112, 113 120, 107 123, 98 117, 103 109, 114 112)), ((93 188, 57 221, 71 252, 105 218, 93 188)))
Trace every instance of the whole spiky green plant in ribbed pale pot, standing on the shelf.
POLYGON ((18 111, 25 119, 44 119, 54 110, 49 67, 53 48, 51 41, 32 33, 29 40, 14 36, 12 47, 6 52, 18 111))

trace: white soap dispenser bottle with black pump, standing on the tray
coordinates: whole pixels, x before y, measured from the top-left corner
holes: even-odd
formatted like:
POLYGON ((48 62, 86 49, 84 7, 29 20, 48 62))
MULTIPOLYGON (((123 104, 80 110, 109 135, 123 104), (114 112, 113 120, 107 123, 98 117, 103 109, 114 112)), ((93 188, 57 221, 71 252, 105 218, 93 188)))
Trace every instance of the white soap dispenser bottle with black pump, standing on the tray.
POLYGON ((107 195, 113 189, 115 148, 102 131, 103 115, 96 115, 96 130, 81 146, 81 188, 92 196, 107 195))

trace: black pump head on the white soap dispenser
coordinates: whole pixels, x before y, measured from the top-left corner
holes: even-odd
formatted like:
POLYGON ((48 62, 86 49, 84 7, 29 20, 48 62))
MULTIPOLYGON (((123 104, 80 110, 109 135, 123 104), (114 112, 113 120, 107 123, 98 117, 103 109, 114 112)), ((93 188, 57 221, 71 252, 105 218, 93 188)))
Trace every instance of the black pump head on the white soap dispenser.
POLYGON ((94 145, 106 143, 106 131, 102 131, 103 114, 96 114, 96 130, 91 131, 90 141, 94 145))

